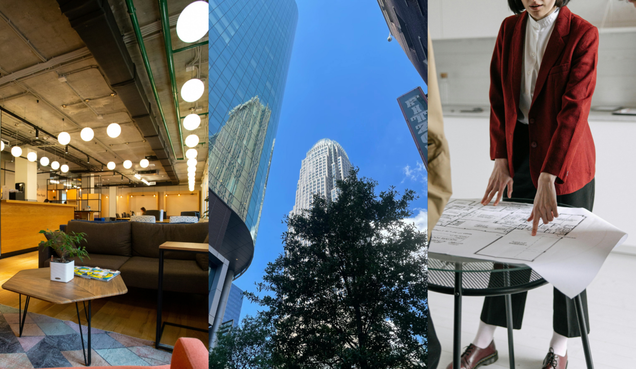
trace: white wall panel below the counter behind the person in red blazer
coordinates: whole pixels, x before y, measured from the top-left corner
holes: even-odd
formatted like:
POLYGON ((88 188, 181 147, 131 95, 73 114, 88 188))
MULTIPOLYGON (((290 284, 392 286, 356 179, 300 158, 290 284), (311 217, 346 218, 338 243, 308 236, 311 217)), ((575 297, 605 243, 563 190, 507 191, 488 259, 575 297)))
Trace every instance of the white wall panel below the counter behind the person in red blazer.
MULTIPOLYGON (((483 198, 493 166, 488 119, 445 117, 444 129, 450 145, 453 198, 483 198)), ((625 246, 636 250, 636 123, 590 121, 590 129, 597 158, 593 212, 630 234, 625 246)))

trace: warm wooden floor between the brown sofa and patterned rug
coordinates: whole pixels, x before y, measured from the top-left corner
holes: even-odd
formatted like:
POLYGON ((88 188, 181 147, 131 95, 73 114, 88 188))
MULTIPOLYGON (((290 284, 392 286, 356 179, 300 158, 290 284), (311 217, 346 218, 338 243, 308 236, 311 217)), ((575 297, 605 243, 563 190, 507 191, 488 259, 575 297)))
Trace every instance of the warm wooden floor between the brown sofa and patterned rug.
MULTIPOLYGON (((38 252, 0 259, 0 286, 22 269, 38 267, 38 252)), ((18 294, 0 288, 0 304, 18 307, 18 294)), ((207 296, 192 293, 163 293, 163 321, 179 325, 207 329, 207 296)), ((104 299, 93 300, 93 328, 121 333, 139 339, 155 341, 156 290, 128 288, 128 293, 104 299)), ((22 299, 24 307, 24 297, 22 299)), ((86 325, 84 308, 79 304, 82 324, 86 325)), ((45 314, 52 318, 71 320, 77 323, 75 304, 56 305, 42 300, 31 299, 29 312, 45 314)), ((208 334, 166 326, 162 344, 174 346, 179 337, 195 337, 207 347, 208 334)))

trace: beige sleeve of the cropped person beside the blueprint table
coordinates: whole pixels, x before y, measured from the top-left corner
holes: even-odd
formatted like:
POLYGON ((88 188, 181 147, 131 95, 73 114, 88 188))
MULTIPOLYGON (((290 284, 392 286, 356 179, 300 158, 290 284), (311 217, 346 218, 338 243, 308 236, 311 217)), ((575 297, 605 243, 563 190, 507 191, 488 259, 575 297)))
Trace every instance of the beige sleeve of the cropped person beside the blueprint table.
POLYGON ((444 135, 444 117, 429 31, 429 239, 434 225, 453 194, 450 180, 450 152, 444 135))

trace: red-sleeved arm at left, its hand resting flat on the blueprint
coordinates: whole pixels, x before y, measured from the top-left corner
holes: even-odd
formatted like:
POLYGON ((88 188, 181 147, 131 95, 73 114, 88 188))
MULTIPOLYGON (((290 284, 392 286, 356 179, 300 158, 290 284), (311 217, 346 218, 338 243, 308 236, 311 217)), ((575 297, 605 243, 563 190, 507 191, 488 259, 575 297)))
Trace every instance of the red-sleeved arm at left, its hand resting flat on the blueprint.
POLYGON ((508 186, 508 197, 513 193, 513 178, 508 169, 508 147, 506 145, 506 108, 504 106, 504 86, 501 73, 501 58, 504 43, 504 24, 501 23, 495 50, 490 61, 490 159, 495 161, 495 166, 488 180, 486 192, 481 199, 481 204, 488 205, 495 198, 494 205, 504 194, 504 188, 508 186))

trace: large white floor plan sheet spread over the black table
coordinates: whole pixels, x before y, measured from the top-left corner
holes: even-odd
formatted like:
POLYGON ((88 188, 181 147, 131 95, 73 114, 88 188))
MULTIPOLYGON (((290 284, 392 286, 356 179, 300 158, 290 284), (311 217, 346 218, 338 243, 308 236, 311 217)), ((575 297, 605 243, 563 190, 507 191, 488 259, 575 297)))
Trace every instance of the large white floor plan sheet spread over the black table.
POLYGON ((531 204, 451 199, 431 232, 429 252, 526 264, 574 298, 595 278, 627 234, 583 208, 558 208, 531 236, 531 204))

